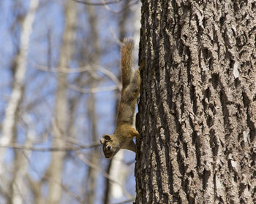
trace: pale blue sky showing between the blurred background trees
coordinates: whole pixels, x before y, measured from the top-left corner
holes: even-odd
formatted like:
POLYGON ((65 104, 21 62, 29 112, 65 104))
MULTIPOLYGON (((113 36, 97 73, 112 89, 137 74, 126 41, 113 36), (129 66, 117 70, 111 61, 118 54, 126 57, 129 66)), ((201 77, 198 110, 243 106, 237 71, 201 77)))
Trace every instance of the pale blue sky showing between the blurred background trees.
MULTIPOLYGON (((17 124, 17 139, 16 143, 23 144, 26 141, 27 131, 31 128, 35 133, 36 146, 49 147, 51 146, 51 121, 54 116, 55 106, 55 91, 56 91, 56 74, 39 71, 34 65, 47 66, 48 65, 48 50, 50 46, 50 66, 56 67, 59 63, 59 51, 61 47, 61 36, 64 31, 65 16, 64 16, 64 3, 65 1, 47 1, 42 0, 37 10, 35 17, 33 31, 30 38, 29 44, 29 56, 27 58, 27 71, 25 79, 24 97, 20 105, 20 116, 17 124), (50 44, 48 40, 50 36, 50 44), (26 115, 31 122, 29 127, 23 122, 23 116, 26 115)), ((26 14, 28 9, 29 1, 18 0, 1 0, 0 2, 0 121, 3 122, 4 110, 8 103, 10 93, 12 92, 12 60, 17 55, 17 50, 20 43, 20 24, 17 23, 18 15, 26 14), (17 6, 14 6, 17 5, 17 6)), ((114 10, 118 10, 121 4, 111 5, 114 10)), ((135 5, 138 7, 138 5, 135 5)), ((132 8, 134 9, 134 7, 132 8)), ((91 46, 89 43, 89 26, 86 9, 83 4, 78 4, 78 28, 75 38, 75 57, 69 62, 70 67, 78 67, 80 65, 80 49, 86 46, 91 46), (86 44, 88 42, 88 44, 86 44), (76 58, 78 56, 78 58, 76 58)), ((116 43, 116 37, 118 37, 118 18, 121 14, 114 14, 105 7, 95 7, 97 13, 97 19, 99 24, 97 25, 99 44, 102 50, 102 55, 99 58, 99 65, 112 71, 116 76, 119 73, 118 62, 119 62, 119 48, 116 43)), ((128 23, 132 23, 134 15, 129 15, 128 23)), ((132 24, 131 24, 132 25, 132 24)), ((127 36, 132 36, 135 32, 132 26, 128 25, 127 36)), ((89 48, 89 47, 87 47, 89 48)), ((92 51, 93 52, 93 51, 92 51)), ((83 56, 82 56, 83 58, 83 56)), ((84 56, 86 59, 86 56, 84 56)), ((86 63, 84 61, 83 63, 86 63)), ((86 64, 84 64, 86 65, 86 64)), ((78 74, 69 74, 69 83, 74 83, 73 80, 78 74)), ((97 83, 99 87, 115 85, 107 76, 98 72, 99 77, 103 77, 103 80, 97 83)), ((84 74, 86 80, 88 76, 84 74)), ((88 88, 84 86, 82 88, 88 88)), ((69 89, 67 92, 69 99, 73 97, 78 98, 78 103, 75 111, 75 129, 76 129, 76 140, 83 144, 91 142, 91 136, 89 136, 89 118, 86 104, 88 103, 90 94, 81 94, 75 90, 69 89)), ((100 92, 95 94, 97 107, 97 133, 99 138, 103 133, 112 133, 114 130, 113 121, 115 120, 115 103, 116 95, 114 91, 111 92, 100 92)), ((0 131, 1 136, 1 131, 0 131)), ((103 156, 102 149, 99 148, 99 154, 103 156)), ((20 151, 21 152, 21 151, 20 151)), ((89 155, 90 151, 85 150, 85 155, 89 155)), ((22 153, 22 152, 21 152, 22 153)), ((135 159, 135 154, 127 152, 125 154, 127 162, 131 162, 135 159)), ((6 162, 12 163, 14 154, 12 149, 7 152, 6 162)), ((45 173, 45 170, 50 164, 50 152, 32 152, 29 157, 29 175, 35 181, 39 181, 40 176, 45 173)), ((100 157, 100 165, 102 169, 106 168, 106 160, 104 157, 100 157)), ((135 195, 135 178, 134 174, 134 163, 129 165, 129 176, 127 177, 127 190, 132 195, 135 195)), ((80 188, 84 187, 83 181, 86 176, 86 170, 88 166, 82 161, 75 158, 75 155, 71 153, 71 156, 67 157, 65 162, 63 181, 67 184, 72 192, 79 195, 80 188), (74 174, 75 171, 75 174, 74 174), (75 184, 75 185, 74 185, 75 184)), ((99 174, 97 179, 97 185, 102 187, 104 179, 99 174)), ((47 188, 46 188, 47 189, 47 188)), ((97 202, 102 203, 102 197, 104 189, 98 188, 99 197, 97 202)), ((47 192, 47 190, 45 190, 47 192)), ((81 195, 82 196, 82 195, 81 195)), ((65 195, 65 197, 69 197, 65 195)), ((70 197, 69 197, 70 198, 70 197)), ((123 198, 125 199, 125 197, 123 198)), ((72 198, 71 198, 72 200, 72 198)), ((1 200, 0 200, 1 203, 1 200)), ((65 203, 65 200, 63 200, 65 203)), ((72 203, 76 203, 72 200, 72 203)))

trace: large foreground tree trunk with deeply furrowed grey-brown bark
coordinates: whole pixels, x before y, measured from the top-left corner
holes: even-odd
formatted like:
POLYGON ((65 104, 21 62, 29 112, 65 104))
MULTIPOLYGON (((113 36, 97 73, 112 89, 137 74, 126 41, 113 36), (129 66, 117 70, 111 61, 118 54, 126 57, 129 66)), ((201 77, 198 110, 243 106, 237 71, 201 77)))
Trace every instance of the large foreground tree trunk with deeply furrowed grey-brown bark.
POLYGON ((136 203, 256 203, 255 1, 142 1, 136 203))

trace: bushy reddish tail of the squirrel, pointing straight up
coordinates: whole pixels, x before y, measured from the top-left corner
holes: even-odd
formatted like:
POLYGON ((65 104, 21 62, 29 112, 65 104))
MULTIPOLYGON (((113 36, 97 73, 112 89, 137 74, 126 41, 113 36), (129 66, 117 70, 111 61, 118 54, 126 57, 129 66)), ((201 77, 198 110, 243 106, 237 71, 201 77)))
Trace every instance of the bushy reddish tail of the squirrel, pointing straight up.
POLYGON ((132 39, 124 39, 124 45, 121 47, 121 78, 123 88, 129 85, 129 81, 132 77, 132 51, 133 51, 132 39))

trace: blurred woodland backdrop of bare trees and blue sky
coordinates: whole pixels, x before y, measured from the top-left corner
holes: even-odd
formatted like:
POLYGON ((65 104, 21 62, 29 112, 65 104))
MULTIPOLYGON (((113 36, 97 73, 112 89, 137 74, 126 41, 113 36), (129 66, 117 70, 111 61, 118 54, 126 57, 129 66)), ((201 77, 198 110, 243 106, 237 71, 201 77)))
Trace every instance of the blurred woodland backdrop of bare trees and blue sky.
POLYGON ((140 2, 2 0, 0 11, 0 203, 134 200, 135 154, 106 160, 98 141, 115 125, 120 44, 138 50, 140 2))

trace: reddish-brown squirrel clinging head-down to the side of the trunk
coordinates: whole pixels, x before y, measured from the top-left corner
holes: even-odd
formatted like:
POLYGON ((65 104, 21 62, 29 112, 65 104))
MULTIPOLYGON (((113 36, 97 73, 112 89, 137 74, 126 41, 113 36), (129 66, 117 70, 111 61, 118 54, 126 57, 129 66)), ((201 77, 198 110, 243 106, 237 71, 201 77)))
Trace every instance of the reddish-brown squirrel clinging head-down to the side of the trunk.
POLYGON ((132 64, 133 42, 125 39, 121 47, 121 100, 116 119, 116 130, 112 135, 105 134, 99 139, 106 158, 111 158, 119 149, 129 149, 136 153, 136 144, 133 138, 140 136, 135 130, 135 109, 140 93, 140 70, 144 63, 136 71, 132 64))

